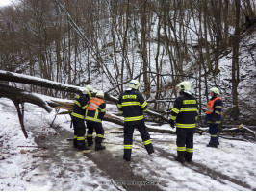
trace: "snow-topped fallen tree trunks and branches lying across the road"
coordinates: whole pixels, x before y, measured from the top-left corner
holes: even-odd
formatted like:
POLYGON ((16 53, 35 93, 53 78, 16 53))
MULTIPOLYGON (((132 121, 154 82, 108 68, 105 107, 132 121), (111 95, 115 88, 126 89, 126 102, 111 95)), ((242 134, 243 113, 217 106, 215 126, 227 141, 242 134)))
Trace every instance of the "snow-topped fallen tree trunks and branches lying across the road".
MULTIPOLYGON (((33 84, 33 85, 38 85, 38 86, 42 86, 42 87, 46 87, 46 88, 52 88, 52 89, 56 89, 56 90, 70 92, 70 93, 80 93, 81 92, 80 86, 74 86, 74 85, 69 85, 69 84, 60 84, 60 83, 56 83, 56 82, 41 79, 41 78, 36 78, 36 77, 32 77, 32 76, 27 76, 27 75, 21 75, 21 74, 17 74, 17 73, 8 72, 8 71, 2 71, 2 70, 0 70, 0 81, 1 80, 8 81, 8 82, 21 83, 21 84, 33 84)), ((31 103, 31 104, 37 105, 41 108, 44 108, 47 112, 51 112, 53 108, 55 108, 55 109, 62 108, 62 109, 66 110, 65 112, 61 112, 59 114, 71 113, 72 108, 73 108, 73 101, 71 101, 71 100, 68 101, 68 100, 64 100, 64 99, 40 95, 37 93, 31 93, 31 92, 28 92, 28 91, 25 91, 25 90, 22 90, 19 88, 15 88, 13 86, 4 85, 4 84, 0 84, 0 97, 9 98, 13 101, 13 104, 15 105, 15 107, 17 109, 17 113, 18 113, 18 117, 20 120, 20 125, 22 128, 22 131, 26 138, 27 138, 27 133, 26 133, 26 130, 25 130, 25 127, 23 124, 24 103, 31 103)), ((105 94, 105 100, 117 104, 117 99, 108 93, 105 94)), ((223 120, 224 120, 225 116, 231 110, 232 110, 232 108, 229 108, 228 110, 226 110, 223 113, 223 116, 222 116, 223 118, 222 118, 220 127, 223 126, 222 125, 223 120)), ((168 119, 163 114, 161 114, 157 111, 152 111, 149 109, 146 111, 146 113, 149 114, 149 116, 155 118, 155 120, 157 122, 160 122, 160 120, 161 120, 162 123, 168 123, 168 119)), ((117 125, 121 125, 121 126, 123 126, 123 124, 124 124, 123 119, 116 117, 113 114, 107 114, 104 117, 104 120, 113 122, 113 123, 115 123, 117 125)), ((150 126, 147 126, 147 130, 150 132, 175 133, 171 130, 159 130, 159 129, 156 129, 156 128, 153 128, 150 126)), ((200 128, 197 128, 196 132, 201 134, 202 132, 208 132, 208 131, 204 131, 204 130, 201 130, 200 128)), ((229 132, 229 131, 225 130, 225 131, 221 131, 221 132, 229 132)), ((232 130, 230 132, 234 132, 234 131, 232 130)), ((254 136, 255 136, 255 133, 254 133, 254 136)))

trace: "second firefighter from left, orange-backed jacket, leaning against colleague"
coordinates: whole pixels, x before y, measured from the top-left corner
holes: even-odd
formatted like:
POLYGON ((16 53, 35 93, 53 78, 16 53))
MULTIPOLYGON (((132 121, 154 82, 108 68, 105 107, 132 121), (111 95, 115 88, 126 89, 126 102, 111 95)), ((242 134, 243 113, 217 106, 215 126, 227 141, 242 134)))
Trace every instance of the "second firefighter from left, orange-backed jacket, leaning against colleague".
POLYGON ((106 113, 106 104, 104 102, 104 92, 98 91, 96 97, 90 99, 88 108, 86 109, 86 121, 88 127, 87 141, 88 146, 93 144, 92 134, 93 129, 96 131, 95 138, 95 151, 104 150, 105 146, 102 146, 102 139, 104 137, 104 130, 102 127, 102 119, 106 113))

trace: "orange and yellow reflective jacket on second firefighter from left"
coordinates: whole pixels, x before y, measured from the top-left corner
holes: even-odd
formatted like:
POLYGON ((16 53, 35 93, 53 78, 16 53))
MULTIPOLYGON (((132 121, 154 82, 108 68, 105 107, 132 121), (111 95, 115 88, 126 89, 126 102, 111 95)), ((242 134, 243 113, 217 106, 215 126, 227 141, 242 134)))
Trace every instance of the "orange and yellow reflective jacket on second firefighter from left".
POLYGON ((93 97, 88 103, 88 108, 86 109, 85 113, 85 119, 101 123, 101 120, 103 119, 105 113, 106 104, 104 100, 98 97, 93 97))

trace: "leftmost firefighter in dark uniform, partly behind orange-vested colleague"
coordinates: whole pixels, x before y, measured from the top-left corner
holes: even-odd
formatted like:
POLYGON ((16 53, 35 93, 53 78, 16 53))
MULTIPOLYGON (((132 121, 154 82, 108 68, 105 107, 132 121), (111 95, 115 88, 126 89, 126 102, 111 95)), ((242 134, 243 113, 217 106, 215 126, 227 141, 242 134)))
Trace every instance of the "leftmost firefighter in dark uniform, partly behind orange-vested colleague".
POLYGON ((74 138, 73 145, 74 148, 79 150, 88 150, 85 143, 85 112, 88 107, 88 101, 90 100, 91 93, 93 92, 93 87, 87 85, 82 93, 77 95, 74 103, 74 108, 71 113, 72 123, 74 126, 74 138))

